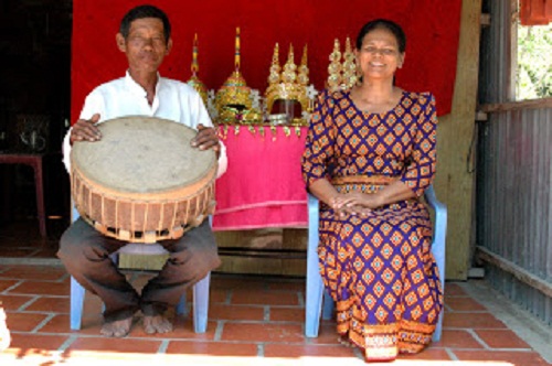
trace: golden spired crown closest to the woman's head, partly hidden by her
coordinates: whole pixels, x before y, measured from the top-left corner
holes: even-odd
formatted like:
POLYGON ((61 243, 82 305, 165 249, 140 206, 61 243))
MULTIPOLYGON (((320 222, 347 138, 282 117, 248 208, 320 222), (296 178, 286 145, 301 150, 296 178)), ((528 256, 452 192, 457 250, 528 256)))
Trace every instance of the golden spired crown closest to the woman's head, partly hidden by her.
POLYGON ((339 40, 336 39, 333 41, 333 51, 330 53, 329 58, 328 79, 326 82, 328 90, 337 92, 350 89, 359 79, 350 39, 347 37, 346 40, 346 50, 342 55, 339 40), (343 61, 341 61, 341 56, 343 61))

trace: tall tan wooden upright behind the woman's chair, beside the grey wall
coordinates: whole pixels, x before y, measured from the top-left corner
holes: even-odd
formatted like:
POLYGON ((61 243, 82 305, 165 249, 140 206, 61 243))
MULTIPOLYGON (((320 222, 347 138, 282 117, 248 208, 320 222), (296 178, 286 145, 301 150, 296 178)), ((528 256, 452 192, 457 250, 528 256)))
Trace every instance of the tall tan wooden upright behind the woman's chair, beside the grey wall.
MULTIPOLYGON (((475 111, 479 73, 481 1, 463 1, 453 110, 437 131, 437 197, 448 208, 446 278, 466 280, 473 239, 475 111)), ((437 100, 438 108, 438 100, 437 100)))

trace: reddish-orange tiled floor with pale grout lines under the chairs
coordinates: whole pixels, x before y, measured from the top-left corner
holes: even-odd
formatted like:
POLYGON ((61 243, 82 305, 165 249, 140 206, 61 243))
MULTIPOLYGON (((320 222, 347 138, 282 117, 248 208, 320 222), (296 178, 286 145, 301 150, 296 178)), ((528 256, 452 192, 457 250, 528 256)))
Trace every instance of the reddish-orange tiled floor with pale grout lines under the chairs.
MULTIPOLYGON (((176 316, 172 333, 150 336, 141 330, 137 315, 137 324, 127 337, 102 337, 102 304, 93 295, 86 299, 83 329, 71 331, 70 279, 63 267, 36 261, 24 265, 32 256, 52 258, 55 240, 31 245, 36 240, 32 234, 18 234, 23 238, 15 245, 8 236, 6 232, 0 234, 3 248, 0 249, 0 301, 13 340, 11 347, 0 353, 1 366, 98 362, 105 365, 363 364, 359 352, 337 343, 333 322, 323 322, 317 338, 304 336, 304 279, 214 273, 204 334, 193 333, 188 316, 176 316), (7 259, 14 254, 21 261, 7 259)), ((131 276, 140 287, 150 274, 131 276)), ((476 301, 471 295, 474 288, 487 291, 481 281, 447 282, 443 340, 416 356, 401 356, 394 364, 549 365, 516 330, 491 313, 493 308, 476 301)))

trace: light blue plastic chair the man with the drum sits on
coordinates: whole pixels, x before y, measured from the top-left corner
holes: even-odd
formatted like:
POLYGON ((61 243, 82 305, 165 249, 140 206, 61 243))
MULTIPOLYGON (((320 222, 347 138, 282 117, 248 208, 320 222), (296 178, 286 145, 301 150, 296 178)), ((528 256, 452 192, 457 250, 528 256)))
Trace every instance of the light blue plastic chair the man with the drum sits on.
MULTIPOLYGON (((78 212, 73 208, 73 220, 78 218, 78 212)), ((112 256, 112 260, 117 262, 119 254, 134 255, 161 255, 168 251, 159 244, 136 244, 129 243, 112 256)), ((209 286, 211 272, 193 286, 193 330, 195 333, 205 333, 209 313, 209 286)), ((84 295, 86 290, 73 277, 71 277, 71 330, 81 330, 83 319, 84 295)), ((185 293, 177 304, 177 314, 188 315, 185 293)))

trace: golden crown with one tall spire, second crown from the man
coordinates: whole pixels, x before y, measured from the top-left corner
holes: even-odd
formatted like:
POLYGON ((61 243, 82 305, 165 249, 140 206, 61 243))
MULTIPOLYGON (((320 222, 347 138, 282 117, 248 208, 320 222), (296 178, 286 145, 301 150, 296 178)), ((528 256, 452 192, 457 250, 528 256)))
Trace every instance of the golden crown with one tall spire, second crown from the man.
POLYGON ((240 73, 240 28, 236 29, 235 69, 224 82, 215 96, 215 108, 221 123, 253 123, 262 122, 262 114, 254 109, 251 88, 240 73))

